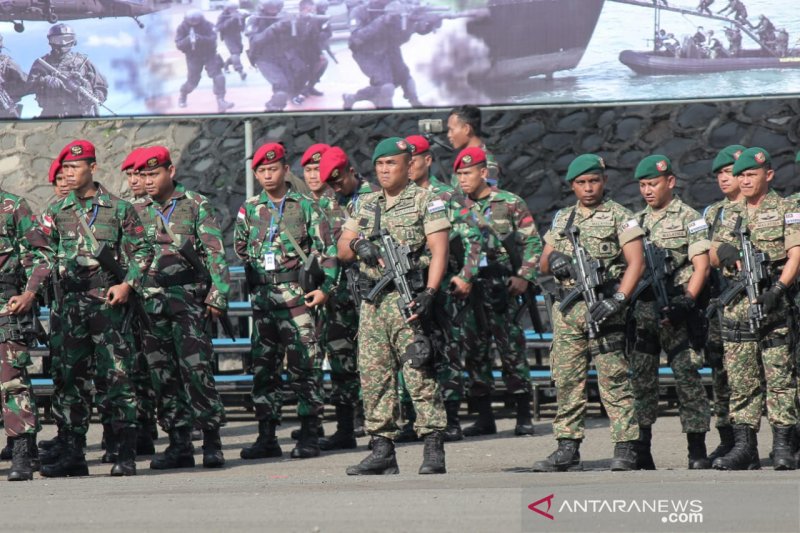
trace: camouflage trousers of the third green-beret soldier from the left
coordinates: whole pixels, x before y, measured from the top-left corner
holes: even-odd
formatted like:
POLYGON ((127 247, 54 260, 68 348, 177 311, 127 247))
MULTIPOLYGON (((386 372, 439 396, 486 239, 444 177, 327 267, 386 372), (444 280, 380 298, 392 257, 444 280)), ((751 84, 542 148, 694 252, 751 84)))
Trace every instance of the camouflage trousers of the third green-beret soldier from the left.
POLYGON ((699 372, 703 360, 689 345, 686 324, 673 327, 661 323, 653 302, 644 301, 636 303, 633 319, 636 321, 636 342, 628 360, 639 425, 650 427, 658 418, 658 369, 663 350, 675 376, 683 432, 707 432, 711 413, 699 372))

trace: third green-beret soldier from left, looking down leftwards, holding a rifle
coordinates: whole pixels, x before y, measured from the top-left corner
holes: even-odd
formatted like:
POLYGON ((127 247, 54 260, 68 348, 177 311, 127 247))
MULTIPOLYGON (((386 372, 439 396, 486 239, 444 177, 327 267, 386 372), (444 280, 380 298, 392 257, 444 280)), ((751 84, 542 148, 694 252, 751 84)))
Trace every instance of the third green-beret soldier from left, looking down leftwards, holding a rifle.
MULTIPOLYGON (((658 368, 663 350, 675 376, 689 469, 708 469, 711 461, 706 454, 705 437, 711 415, 699 373, 702 356, 693 348, 698 331, 702 330, 696 325, 705 319, 704 310, 698 306, 709 270, 708 224, 700 213, 673 194, 676 178, 667 157, 645 157, 637 165, 634 177, 639 180, 639 192, 647 203, 636 217, 652 246, 666 252, 663 264, 653 266, 660 272, 648 265, 651 285, 639 294, 632 313, 636 335, 628 359, 639 422, 637 467, 655 470, 650 442, 652 426, 658 418, 658 368), (671 274, 662 283, 657 276, 664 269, 671 274), (662 286, 654 286, 658 283, 662 286), (658 300, 662 288, 669 298, 663 308, 661 304, 665 302, 658 300)), ((660 251, 654 250, 652 255, 658 254, 660 251)))

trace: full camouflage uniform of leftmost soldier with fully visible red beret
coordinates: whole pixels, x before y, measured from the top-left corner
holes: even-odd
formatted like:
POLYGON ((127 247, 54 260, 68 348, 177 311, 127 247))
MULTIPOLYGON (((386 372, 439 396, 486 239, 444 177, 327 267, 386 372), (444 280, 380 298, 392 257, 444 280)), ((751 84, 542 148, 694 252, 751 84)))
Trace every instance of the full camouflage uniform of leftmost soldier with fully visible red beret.
POLYGON ((134 291, 141 290, 143 273, 153 257, 133 206, 102 185, 97 187, 97 194, 85 205, 72 191, 42 215, 42 228, 50 234, 64 292, 61 402, 67 416, 65 429, 78 435, 85 435, 89 427, 92 378, 98 391, 106 391, 100 400, 101 421, 111 423, 114 431, 137 423, 136 394, 130 380, 133 355, 129 336, 122 332, 130 306, 105 303, 106 291, 116 280, 94 259, 95 244, 87 238, 78 217, 83 217, 99 245, 114 250, 128 271, 124 281, 134 291))

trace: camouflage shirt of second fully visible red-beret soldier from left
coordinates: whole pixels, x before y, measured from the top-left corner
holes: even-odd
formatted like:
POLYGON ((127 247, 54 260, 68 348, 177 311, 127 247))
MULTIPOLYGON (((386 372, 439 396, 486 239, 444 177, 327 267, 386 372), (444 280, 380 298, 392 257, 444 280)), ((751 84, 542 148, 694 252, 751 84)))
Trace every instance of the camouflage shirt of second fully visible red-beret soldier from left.
MULTIPOLYGON (((134 208, 141 216, 147 237, 153 242, 155 256, 148 276, 156 279, 159 275, 172 276, 191 270, 191 265, 178 251, 184 242, 189 241, 211 275, 205 304, 227 309, 230 274, 222 244, 222 231, 208 199, 175 183, 175 191, 164 205, 144 196, 134 200, 134 208), (169 231, 165 229, 165 224, 169 231)), ((148 286, 145 295, 154 296, 163 292, 161 287, 148 286)))

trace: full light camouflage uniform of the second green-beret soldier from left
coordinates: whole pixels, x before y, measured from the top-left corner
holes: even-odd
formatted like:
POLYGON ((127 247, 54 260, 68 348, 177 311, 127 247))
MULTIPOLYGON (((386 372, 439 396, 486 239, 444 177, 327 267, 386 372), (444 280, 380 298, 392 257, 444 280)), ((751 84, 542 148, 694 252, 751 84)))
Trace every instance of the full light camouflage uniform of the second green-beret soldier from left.
MULTIPOLYGON (((594 209, 579 203, 562 209, 553 218, 544 240, 554 250, 572 255, 569 240, 562 235, 572 210, 573 223, 580 229, 580 243, 594 259, 606 267, 607 282, 601 292, 611 297, 625 271, 622 247, 644 235, 633 213, 613 200, 606 199, 594 209)), ((574 281, 559 282, 562 290, 574 287, 574 281)), ((600 336, 589 339, 586 327, 586 304, 579 297, 566 311, 553 306, 553 345, 550 366, 558 395, 558 411, 553 420, 556 439, 583 439, 586 414, 586 380, 589 361, 594 361, 600 385, 600 399, 611 421, 611 440, 627 442, 639 438, 634 409, 629 365, 624 354, 625 313, 618 313, 600 327, 600 336)))

